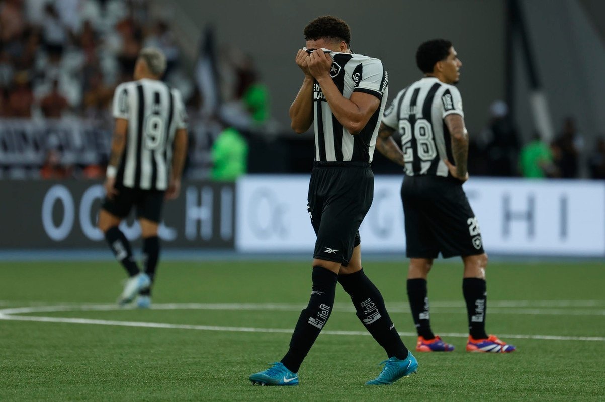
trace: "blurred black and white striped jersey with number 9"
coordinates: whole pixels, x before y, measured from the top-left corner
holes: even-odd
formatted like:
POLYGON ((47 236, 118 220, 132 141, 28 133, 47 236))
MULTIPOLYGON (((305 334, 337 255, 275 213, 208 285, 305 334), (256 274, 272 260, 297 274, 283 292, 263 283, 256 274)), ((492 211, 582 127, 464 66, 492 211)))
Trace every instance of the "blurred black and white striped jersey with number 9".
POLYGON ((159 80, 122 83, 114 94, 113 115, 128 120, 116 183, 131 189, 168 189, 174 134, 187 128, 180 92, 159 80))

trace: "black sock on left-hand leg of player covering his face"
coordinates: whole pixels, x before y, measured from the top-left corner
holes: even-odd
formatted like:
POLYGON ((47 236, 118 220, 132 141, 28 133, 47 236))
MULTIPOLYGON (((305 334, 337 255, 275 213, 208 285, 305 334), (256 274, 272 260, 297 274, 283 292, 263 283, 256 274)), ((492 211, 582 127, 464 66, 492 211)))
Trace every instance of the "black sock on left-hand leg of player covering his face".
POLYGON ((313 267, 313 288, 307 308, 301 311, 294 328, 290 349, 281 359, 287 369, 296 373, 311 350, 332 313, 338 275, 324 267, 313 267))

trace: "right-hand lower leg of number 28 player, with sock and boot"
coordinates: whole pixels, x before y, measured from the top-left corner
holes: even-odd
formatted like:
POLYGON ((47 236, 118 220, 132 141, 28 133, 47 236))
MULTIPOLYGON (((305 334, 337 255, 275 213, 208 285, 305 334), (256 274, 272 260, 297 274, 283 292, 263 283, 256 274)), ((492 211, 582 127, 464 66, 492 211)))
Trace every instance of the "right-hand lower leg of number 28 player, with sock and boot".
POLYGON ((485 313, 487 307, 487 290, 485 268, 488 265, 487 254, 478 254, 462 258, 464 262, 464 279, 462 293, 466 301, 468 314, 469 337, 466 350, 469 352, 512 352, 516 348, 507 345, 494 335, 485 332, 485 313))

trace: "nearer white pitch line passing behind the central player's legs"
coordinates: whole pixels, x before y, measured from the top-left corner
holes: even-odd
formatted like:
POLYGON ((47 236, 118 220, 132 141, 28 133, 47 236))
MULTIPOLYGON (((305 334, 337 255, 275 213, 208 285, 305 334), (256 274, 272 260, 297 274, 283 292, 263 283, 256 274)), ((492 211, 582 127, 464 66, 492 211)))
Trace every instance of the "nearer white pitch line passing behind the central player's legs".
MULTIPOLYGON (((273 332, 281 334, 292 334, 292 329, 286 328, 253 328, 246 326, 212 326, 212 325, 188 325, 188 324, 168 324, 161 322, 139 322, 139 321, 119 321, 119 320, 95 320, 84 318, 66 318, 66 317, 33 317, 33 316, 11 316, 0 313, 0 320, 19 320, 19 321, 39 321, 39 322, 61 322, 76 324, 96 324, 96 325, 114 325, 114 326, 136 326, 143 328, 170 328, 170 329, 197 329, 198 331, 229 331, 229 332, 273 332)), ((325 335, 341 336, 368 336, 365 331, 330 331, 326 329, 321 331, 325 335)), ((400 336, 415 337, 416 332, 399 332, 400 336)), ((468 334, 457 332, 444 333, 443 336, 466 338, 468 334)), ((514 339, 540 339, 540 340, 579 340, 592 342, 605 342, 605 337, 572 337, 572 336, 554 336, 554 335, 502 335, 506 338, 514 339)))

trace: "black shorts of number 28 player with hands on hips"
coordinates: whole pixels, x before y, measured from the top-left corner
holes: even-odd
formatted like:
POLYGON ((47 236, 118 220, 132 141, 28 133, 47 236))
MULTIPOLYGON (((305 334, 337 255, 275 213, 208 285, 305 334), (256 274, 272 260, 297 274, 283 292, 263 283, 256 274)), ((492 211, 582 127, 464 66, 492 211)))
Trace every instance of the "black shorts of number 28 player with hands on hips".
POLYGON ((483 254, 477 218, 459 182, 407 176, 401 186, 408 258, 483 254))

